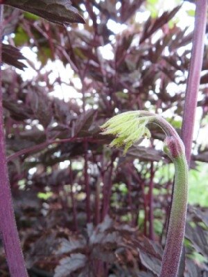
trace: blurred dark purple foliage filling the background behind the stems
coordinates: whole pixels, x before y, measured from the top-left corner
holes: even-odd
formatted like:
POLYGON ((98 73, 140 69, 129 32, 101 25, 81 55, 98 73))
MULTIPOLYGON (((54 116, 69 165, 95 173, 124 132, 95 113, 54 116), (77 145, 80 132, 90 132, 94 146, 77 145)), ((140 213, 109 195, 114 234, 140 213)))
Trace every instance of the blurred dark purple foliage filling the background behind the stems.
MULTIPOLYGON (((180 127, 192 34, 174 21, 168 25, 181 7, 154 18, 149 3, 72 1, 85 18, 82 26, 51 24, 5 6, 6 150, 30 276, 159 274, 173 180, 161 148, 164 134, 150 127, 150 141, 132 145, 123 157, 122 150, 107 148, 114 138, 99 128, 114 114, 137 109, 163 112, 180 127), (26 50, 27 59, 21 54, 26 50)), ((207 64, 206 46, 201 126, 208 109, 207 64)), ((194 172, 197 161, 207 163, 207 153, 196 138, 194 172)), ((194 204, 187 215, 185 277, 208 274, 207 208, 194 204)), ((0 272, 8 276, 3 248, 0 272)))

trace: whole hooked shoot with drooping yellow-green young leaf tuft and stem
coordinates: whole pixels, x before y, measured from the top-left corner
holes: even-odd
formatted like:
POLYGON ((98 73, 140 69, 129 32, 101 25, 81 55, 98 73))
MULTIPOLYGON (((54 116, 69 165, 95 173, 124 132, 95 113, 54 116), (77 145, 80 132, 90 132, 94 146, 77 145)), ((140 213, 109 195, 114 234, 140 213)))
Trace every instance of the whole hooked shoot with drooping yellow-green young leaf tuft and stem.
POLYGON ((164 130, 166 134, 164 152, 170 157, 175 166, 171 214, 159 276, 176 277, 184 240, 188 194, 188 165, 184 144, 180 136, 162 116, 157 116, 148 111, 127 111, 110 118, 101 128, 105 131, 103 134, 116 135, 116 139, 110 144, 111 146, 125 145, 124 152, 126 152, 142 136, 150 136, 150 132, 146 127, 150 123, 155 123, 164 130))

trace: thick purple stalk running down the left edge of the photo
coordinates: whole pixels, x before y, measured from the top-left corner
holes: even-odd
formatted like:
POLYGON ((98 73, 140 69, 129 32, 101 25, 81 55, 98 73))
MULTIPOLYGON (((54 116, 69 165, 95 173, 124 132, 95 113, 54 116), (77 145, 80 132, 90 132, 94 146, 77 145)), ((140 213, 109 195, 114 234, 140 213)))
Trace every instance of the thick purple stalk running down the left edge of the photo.
MULTIPOLYGON (((0 5, 0 35, 2 37, 2 17, 3 5, 0 5)), ((1 64, 0 42, 0 64, 1 64)), ((6 260, 11 277, 26 277, 26 267, 24 257, 21 252, 15 213, 12 206, 12 195, 8 179, 8 168, 6 164, 5 139, 3 129, 3 105, 1 89, 1 69, 0 69, 0 233, 3 240, 3 247, 6 253, 6 260)))

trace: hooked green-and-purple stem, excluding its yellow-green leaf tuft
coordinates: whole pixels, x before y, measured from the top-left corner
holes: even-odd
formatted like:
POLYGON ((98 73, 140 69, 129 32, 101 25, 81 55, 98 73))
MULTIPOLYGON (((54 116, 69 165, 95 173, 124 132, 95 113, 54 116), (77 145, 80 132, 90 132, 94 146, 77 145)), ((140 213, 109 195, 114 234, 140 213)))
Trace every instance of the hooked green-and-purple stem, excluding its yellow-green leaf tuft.
POLYGON ((150 116, 152 118, 150 122, 162 127, 166 133, 164 152, 168 154, 175 166, 171 214, 159 277, 176 277, 180 265, 187 215, 188 165, 184 144, 175 129, 162 116, 152 114, 150 116))

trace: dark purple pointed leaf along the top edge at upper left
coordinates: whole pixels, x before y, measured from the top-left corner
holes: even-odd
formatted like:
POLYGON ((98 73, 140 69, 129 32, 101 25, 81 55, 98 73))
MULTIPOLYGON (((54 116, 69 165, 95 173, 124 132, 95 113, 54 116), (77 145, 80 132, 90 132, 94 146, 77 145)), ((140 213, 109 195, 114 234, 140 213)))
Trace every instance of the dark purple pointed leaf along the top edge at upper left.
POLYGON ((3 3, 57 24, 85 23, 69 0, 5 0, 3 3))

